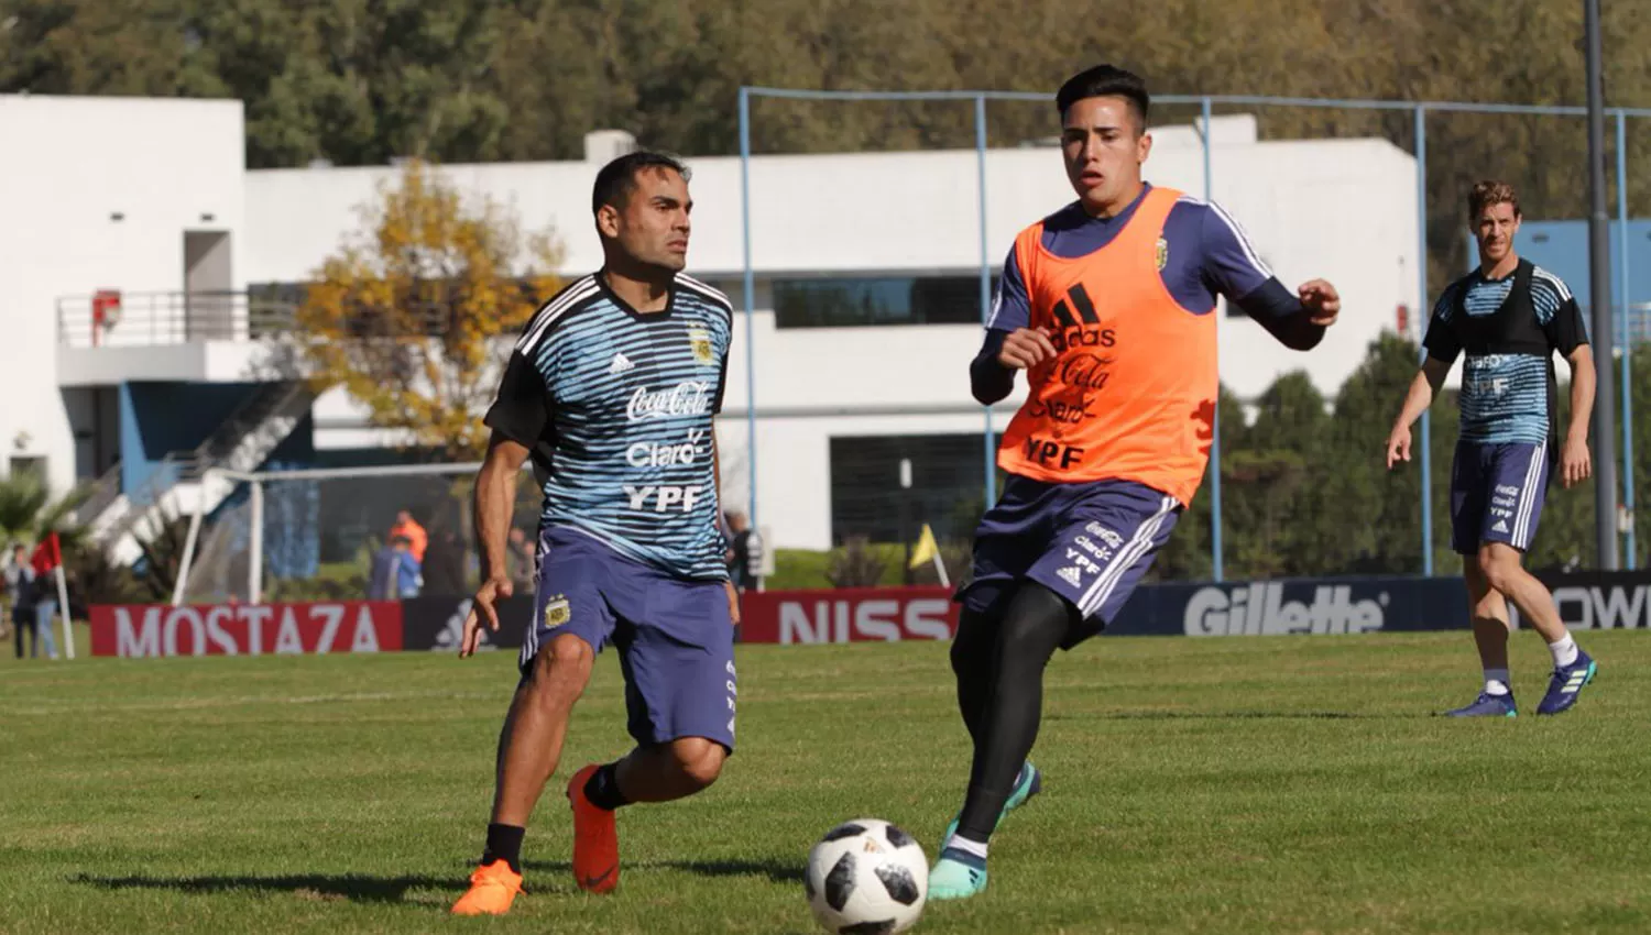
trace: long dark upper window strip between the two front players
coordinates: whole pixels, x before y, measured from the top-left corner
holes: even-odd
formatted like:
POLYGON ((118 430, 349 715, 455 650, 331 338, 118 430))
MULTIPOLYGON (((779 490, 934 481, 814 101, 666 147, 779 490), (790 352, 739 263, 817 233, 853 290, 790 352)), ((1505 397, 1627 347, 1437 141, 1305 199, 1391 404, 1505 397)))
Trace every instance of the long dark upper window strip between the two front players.
MULTIPOLYGON (((997 275, 992 275, 997 289, 997 275)), ((865 325, 974 325, 981 322, 977 275, 776 279, 779 328, 865 325)))

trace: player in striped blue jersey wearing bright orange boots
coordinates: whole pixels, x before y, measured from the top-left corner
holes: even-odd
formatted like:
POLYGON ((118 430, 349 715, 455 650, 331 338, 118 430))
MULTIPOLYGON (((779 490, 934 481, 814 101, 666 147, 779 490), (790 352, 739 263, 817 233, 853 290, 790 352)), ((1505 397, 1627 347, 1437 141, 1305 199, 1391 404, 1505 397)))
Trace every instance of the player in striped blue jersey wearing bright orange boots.
POLYGON ((512 592, 507 534, 515 478, 543 485, 533 620, 499 739, 487 849, 459 915, 497 915, 522 892, 522 836, 556 770, 573 704, 613 645, 626 678, 626 757, 578 770, 573 876, 619 882, 614 811, 693 795, 733 752, 733 625, 723 561, 713 416, 733 338, 728 297, 682 274, 688 170, 637 152, 596 176, 591 204, 604 265, 545 303, 510 353, 487 412, 475 485, 482 587, 461 653, 499 628, 512 592))

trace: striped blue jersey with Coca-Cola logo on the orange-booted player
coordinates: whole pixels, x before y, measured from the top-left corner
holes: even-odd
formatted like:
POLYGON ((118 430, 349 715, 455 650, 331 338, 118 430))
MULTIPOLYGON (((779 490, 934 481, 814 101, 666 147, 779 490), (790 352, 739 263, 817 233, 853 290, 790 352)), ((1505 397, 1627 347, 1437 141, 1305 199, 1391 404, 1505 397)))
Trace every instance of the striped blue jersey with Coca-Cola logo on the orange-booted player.
POLYGON ((684 579, 726 579, 715 434, 733 307, 679 274, 641 313, 586 275, 522 331, 487 424, 533 452, 542 524, 684 579))

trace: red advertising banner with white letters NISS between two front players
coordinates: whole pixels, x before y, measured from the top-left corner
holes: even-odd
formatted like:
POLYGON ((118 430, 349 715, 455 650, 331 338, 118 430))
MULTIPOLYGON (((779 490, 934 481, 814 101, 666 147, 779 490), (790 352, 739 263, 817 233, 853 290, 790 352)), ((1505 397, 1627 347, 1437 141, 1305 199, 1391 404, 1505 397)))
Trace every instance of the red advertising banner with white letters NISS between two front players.
POLYGON ((845 587, 746 592, 745 643, 949 640, 958 605, 946 587, 845 587))

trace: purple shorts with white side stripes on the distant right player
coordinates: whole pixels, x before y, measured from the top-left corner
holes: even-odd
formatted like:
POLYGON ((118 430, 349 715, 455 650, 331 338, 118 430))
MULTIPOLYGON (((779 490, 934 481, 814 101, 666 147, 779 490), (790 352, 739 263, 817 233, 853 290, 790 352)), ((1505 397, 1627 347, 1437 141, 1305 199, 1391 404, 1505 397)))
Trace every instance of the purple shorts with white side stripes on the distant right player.
POLYGON ((1552 463, 1547 445, 1458 442, 1450 472, 1450 543, 1471 556, 1481 543, 1530 549, 1552 463))

